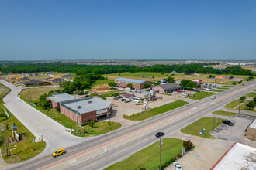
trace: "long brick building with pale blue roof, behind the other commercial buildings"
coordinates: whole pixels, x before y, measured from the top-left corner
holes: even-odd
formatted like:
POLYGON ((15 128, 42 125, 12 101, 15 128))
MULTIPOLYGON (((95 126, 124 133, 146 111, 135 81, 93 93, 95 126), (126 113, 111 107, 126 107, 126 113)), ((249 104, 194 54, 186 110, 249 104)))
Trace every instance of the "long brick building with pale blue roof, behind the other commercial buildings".
POLYGON ((126 78, 119 78, 115 80, 116 86, 126 87, 127 84, 132 84, 133 88, 135 89, 143 89, 144 84, 148 83, 150 87, 152 87, 152 82, 144 81, 144 80, 134 80, 134 79, 126 79, 126 78))

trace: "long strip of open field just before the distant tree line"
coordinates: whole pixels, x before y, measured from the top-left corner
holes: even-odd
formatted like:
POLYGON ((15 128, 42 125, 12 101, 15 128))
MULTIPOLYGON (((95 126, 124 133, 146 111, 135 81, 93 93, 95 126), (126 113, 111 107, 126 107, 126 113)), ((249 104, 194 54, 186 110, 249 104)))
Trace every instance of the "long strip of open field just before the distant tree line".
MULTIPOLYGON (((215 74, 212 74, 215 75, 215 74)), ((223 76, 227 76, 225 74, 222 74, 223 76)), ((163 80, 167 79, 168 76, 171 76, 171 73, 151 73, 151 72, 137 72, 137 73, 112 73, 112 74, 103 74, 102 76, 108 77, 109 80, 115 80, 117 78, 123 77, 123 78, 130 78, 130 79, 137 79, 137 80, 147 80, 147 81, 153 81, 153 80, 163 80)), ((216 75, 217 76, 217 75, 216 75)), ((182 80, 182 79, 188 79, 188 80, 202 80, 203 83, 225 83, 225 84, 231 84, 231 80, 215 80, 215 79, 209 79, 209 74, 193 74, 193 75, 185 75, 183 73, 175 73, 173 76, 175 80, 182 80)), ((236 78, 244 79, 247 76, 235 76, 236 78)))

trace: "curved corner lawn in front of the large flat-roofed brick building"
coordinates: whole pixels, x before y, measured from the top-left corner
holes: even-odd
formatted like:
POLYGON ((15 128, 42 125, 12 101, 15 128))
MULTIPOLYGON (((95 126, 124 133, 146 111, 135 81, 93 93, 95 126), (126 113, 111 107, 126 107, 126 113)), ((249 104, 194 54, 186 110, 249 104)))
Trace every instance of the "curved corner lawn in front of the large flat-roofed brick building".
POLYGON ((110 122, 109 124, 108 121, 100 121, 95 123, 94 128, 90 127, 89 125, 84 126, 85 133, 81 131, 81 128, 78 128, 78 134, 76 133, 76 131, 72 131, 72 134, 81 137, 97 136, 99 134, 106 134, 109 131, 119 129, 121 126, 122 124, 119 124, 117 122, 110 122))

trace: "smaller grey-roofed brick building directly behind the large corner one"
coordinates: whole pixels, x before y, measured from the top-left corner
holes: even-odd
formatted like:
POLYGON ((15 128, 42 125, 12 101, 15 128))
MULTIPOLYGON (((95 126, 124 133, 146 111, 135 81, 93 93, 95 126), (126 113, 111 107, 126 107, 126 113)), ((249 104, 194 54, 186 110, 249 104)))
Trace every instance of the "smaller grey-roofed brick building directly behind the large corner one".
POLYGON ((51 101, 51 106, 53 108, 57 107, 57 106, 61 106, 61 102, 63 101, 67 101, 67 100, 73 100, 73 99, 77 99, 77 97, 73 97, 67 93, 57 93, 54 94, 51 97, 47 97, 47 100, 51 101))

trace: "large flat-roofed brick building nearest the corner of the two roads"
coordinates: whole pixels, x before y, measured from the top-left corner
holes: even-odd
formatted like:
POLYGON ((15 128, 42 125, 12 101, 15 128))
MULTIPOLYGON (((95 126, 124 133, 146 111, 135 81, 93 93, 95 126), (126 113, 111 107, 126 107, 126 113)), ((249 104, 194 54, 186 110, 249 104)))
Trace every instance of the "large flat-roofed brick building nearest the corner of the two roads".
POLYGON ((87 97, 84 99, 73 99, 61 102, 61 114, 77 121, 78 123, 86 123, 89 120, 97 120, 97 117, 110 114, 112 103, 108 100, 103 100, 98 97, 87 97))

